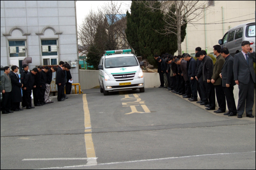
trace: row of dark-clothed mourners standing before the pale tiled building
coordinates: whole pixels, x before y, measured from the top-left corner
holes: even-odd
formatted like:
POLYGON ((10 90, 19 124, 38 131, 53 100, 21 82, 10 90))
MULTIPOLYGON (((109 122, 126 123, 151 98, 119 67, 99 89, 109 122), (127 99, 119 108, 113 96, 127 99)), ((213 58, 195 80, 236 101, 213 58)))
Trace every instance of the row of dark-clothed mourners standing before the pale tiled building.
POLYGON ((4 67, 4 74, 1 75, 1 91, 3 95, 1 109, 3 114, 54 103, 50 100, 50 90, 53 72, 55 71, 55 84, 58 91, 57 99, 59 102, 68 99, 66 94, 70 94, 72 88, 72 83, 69 82, 72 81, 71 66, 68 63, 60 61, 58 66, 53 67, 39 65, 30 71, 27 64, 22 67, 20 77, 18 75, 18 66, 4 67), (34 106, 32 106, 32 92, 34 106), (22 103, 22 108, 20 108, 20 103, 22 103))

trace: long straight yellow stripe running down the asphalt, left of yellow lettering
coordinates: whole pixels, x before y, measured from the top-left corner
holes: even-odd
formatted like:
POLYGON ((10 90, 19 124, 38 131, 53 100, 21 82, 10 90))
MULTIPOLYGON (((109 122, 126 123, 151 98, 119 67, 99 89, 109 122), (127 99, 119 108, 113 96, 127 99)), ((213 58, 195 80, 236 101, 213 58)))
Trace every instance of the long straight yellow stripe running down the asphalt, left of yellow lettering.
MULTIPOLYGON (((88 108, 88 102, 86 99, 86 94, 82 95, 83 100, 83 111, 84 111, 84 132, 92 132, 92 126, 91 126, 91 118, 90 118, 90 112, 88 108)), ((84 134, 84 141, 86 142, 86 154, 87 158, 95 158, 95 150, 94 150, 94 144, 93 144, 93 138, 92 134, 84 134)), ((97 163, 96 160, 93 160, 93 163, 97 163)))

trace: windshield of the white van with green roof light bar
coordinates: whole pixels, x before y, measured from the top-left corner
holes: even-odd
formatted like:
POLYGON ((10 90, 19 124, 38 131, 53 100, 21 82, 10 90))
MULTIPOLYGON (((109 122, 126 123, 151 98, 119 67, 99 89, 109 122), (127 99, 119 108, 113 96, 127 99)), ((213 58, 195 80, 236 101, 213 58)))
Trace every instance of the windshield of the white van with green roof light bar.
POLYGON ((139 65, 134 56, 113 57, 105 59, 105 68, 132 67, 139 65))

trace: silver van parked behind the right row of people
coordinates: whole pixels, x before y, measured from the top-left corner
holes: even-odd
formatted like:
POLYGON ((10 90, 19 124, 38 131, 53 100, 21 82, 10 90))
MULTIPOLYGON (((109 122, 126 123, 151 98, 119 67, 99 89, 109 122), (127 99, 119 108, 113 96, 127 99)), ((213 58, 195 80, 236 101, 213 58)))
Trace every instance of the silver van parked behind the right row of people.
POLYGON ((242 51, 241 43, 243 41, 249 41, 255 52, 255 22, 243 23, 231 28, 219 40, 219 44, 221 47, 227 47, 230 55, 234 56, 242 51))

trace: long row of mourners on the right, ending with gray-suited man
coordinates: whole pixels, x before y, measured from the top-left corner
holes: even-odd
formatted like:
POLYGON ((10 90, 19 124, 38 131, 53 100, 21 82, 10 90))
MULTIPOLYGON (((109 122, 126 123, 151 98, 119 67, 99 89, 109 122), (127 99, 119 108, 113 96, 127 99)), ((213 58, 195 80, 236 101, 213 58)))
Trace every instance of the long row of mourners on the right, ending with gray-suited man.
POLYGON ((182 95, 190 102, 204 105, 206 110, 216 110, 228 116, 242 118, 244 110, 247 117, 252 115, 254 104, 255 52, 249 41, 242 42, 242 51, 231 56, 228 48, 215 45, 214 64, 211 57, 201 47, 195 49, 196 59, 189 54, 173 56, 155 55, 161 85, 175 94, 182 95), (236 106, 233 89, 239 86, 239 101, 236 106), (198 94, 200 101, 198 101, 198 94), (219 108, 216 109, 216 98, 219 108), (228 112, 226 112, 226 103, 228 112))

